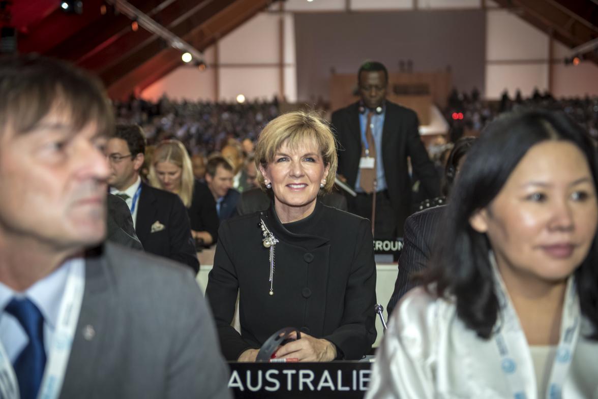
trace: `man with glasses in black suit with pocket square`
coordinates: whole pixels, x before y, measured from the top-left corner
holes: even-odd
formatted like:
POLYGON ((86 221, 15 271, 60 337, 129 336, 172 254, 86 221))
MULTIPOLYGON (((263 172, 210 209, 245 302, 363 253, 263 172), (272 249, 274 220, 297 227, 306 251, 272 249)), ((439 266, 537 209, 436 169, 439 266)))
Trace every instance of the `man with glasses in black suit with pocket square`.
POLYGON ((199 260, 185 205, 176 194, 153 188, 139 176, 145 137, 138 125, 118 125, 106 145, 110 193, 129 205, 135 232, 145 251, 199 271, 199 260))

